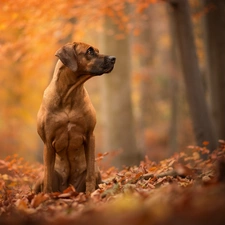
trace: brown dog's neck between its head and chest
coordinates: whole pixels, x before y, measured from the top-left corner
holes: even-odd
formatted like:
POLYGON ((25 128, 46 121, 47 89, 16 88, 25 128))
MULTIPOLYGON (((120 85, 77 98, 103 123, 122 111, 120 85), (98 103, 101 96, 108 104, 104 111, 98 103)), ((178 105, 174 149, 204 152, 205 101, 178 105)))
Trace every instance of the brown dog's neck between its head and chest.
POLYGON ((44 99, 51 101, 55 107, 71 107, 76 104, 76 98, 84 98, 87 92, 83 86, 84 82, 90 79, 90 75, 77 76, 58 60, 53 78, 45 90, 44 99))

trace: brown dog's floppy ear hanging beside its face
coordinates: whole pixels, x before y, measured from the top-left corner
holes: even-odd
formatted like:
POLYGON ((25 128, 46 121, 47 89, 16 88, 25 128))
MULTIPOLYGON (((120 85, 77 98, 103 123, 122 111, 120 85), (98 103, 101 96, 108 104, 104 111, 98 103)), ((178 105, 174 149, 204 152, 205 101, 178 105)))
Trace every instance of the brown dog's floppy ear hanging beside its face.
POLYGON ((61 62, 73 72, 77 71, 77 57, 75 55, 73 44, 64 45, 56 51, 55 56, 57 56, 61 62))

